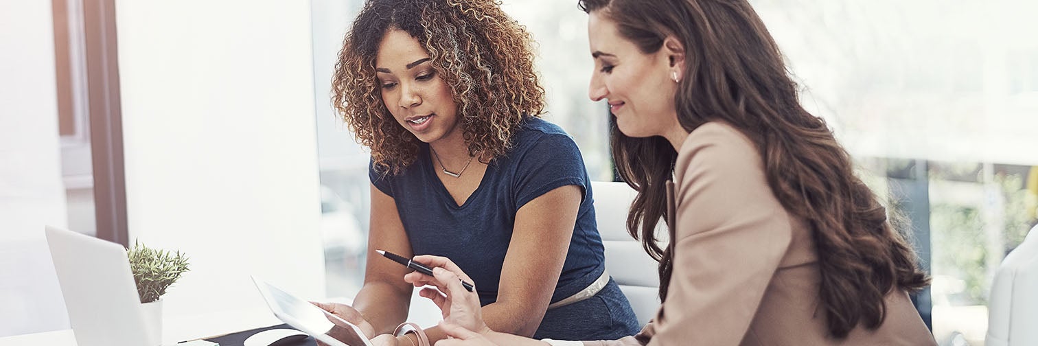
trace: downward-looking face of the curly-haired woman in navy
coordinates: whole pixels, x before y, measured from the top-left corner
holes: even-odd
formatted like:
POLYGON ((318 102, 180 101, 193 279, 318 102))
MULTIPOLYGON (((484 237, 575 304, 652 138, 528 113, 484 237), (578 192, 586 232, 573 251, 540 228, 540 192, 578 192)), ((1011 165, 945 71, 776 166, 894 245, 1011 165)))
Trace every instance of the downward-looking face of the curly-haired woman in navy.
POLYGON ((382 102, 405 129, 424 142, 460 136, 450 87, 443 81, 418 41, 405 31, 390 29, 375 56, 382 102))

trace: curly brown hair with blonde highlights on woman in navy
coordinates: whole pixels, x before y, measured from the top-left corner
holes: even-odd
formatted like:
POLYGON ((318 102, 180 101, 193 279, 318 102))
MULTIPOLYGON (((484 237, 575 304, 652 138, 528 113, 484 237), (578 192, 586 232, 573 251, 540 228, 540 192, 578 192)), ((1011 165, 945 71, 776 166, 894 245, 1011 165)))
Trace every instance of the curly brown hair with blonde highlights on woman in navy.
POLYGON ((469 155, 501 157, 521 123, 544 111, 531 38, 494 0, 368 0, 346 34, 332 76, 332 102, 372 161, 399 174, 417 158, 419 140, 382 102, 375 77, 379 44, 407 32, 429 52, 458 105, 469 155))

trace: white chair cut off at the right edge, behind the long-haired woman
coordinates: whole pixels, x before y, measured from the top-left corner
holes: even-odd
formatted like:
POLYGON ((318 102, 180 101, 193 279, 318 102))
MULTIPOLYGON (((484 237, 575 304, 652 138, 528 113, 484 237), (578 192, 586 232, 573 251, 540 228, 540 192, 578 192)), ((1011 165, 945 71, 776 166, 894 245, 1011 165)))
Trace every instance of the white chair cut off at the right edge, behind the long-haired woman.
POLYGON ((1009 252, 991 284, 989 346, 1038 345, 1038 227, 1009 252))

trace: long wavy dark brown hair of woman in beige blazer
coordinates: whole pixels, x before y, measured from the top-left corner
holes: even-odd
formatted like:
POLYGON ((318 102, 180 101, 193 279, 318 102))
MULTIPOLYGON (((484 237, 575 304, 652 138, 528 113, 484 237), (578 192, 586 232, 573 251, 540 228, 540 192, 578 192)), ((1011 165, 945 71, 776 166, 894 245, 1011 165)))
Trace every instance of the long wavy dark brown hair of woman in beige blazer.
MULTIPOLYGON (((778 47, 745 0, 579 4, 616 22, 643 53, 657 52, 670 35, 681 42, 686 54, 685 78, 675 95, 679 123, 691 132, 723 122, 754 141, 772 193, 813 231, 820 308, 832 337, 845 338, 859 323, 878 327, 887 293, 929 285, 908 242, 854 175, 847 152, 823 119, 800 106, 778 47)), ((620 176, 638 191, 627 230, 659 260, 660 298, 666 299, 674 249, 662 249, 654 230, 666 216, 664 182, 677 153, 662 137, 628 137, 616 126, 610 136, 620 176)))

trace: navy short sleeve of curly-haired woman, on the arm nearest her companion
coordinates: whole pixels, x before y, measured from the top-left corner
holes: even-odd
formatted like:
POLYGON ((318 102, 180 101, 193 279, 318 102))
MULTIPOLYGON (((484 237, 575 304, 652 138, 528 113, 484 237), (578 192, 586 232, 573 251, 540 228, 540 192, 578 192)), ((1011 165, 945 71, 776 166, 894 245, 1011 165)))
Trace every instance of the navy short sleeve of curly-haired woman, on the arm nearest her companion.
POLYGON ((580 150, 566 134, 544 134, 519 158, 516 171, 516 209, 566 185, 579 186, 580 201, 588 195, 588 170, 580 150))

